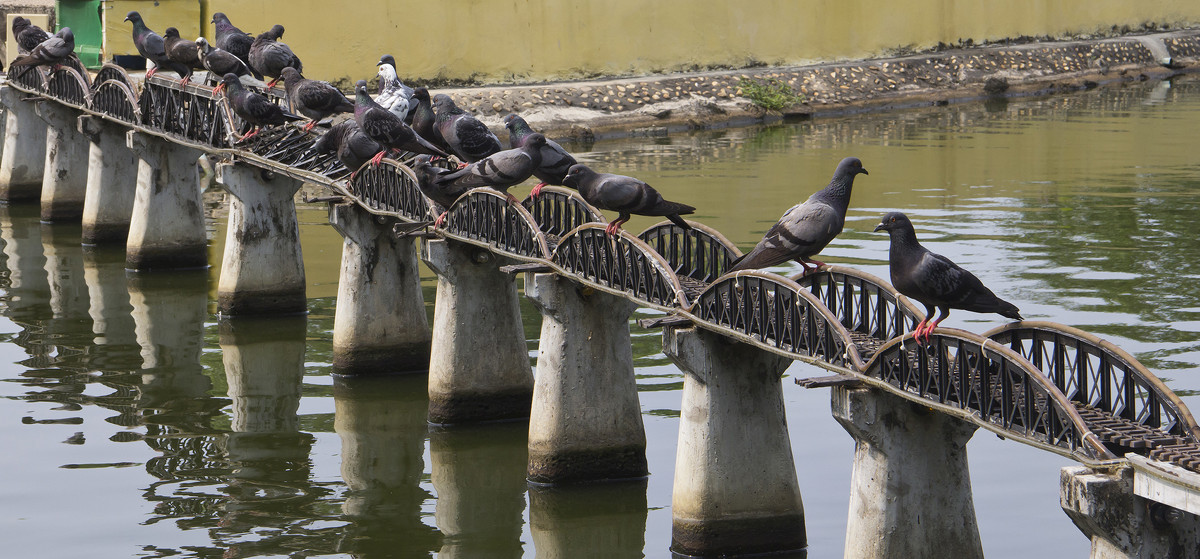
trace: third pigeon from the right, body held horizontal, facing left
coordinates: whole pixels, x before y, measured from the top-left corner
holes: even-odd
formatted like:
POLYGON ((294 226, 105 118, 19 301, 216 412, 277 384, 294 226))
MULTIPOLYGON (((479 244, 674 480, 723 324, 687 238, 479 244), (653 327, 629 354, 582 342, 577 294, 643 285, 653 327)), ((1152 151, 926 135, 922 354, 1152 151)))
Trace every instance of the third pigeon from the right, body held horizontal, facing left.
POLYGON ((691 214, 696 211, 695 208, 678 202, 664 200, 662 194, 659 194, 654 187, 632 176, 596 173, 586 164, 576 163, 566 172, 563 184, 580 191, 588 204, 620 214, 608 223, 608 227, 605 227, 604 232, 608 235, 616 235, 620 230, 620 226, 629 221, 630 214, 666 216, 667 220, 684 230, 691 230, 691 226, 683 221, 679 215, 691 214))

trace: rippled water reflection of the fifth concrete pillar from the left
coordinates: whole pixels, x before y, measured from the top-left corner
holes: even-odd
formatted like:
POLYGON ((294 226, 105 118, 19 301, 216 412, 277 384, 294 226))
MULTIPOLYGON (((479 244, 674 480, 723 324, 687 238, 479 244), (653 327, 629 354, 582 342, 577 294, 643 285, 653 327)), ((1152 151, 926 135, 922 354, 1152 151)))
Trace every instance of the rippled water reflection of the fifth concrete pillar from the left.
MULTIPOLYGON (((310 517, 313 438, 298 429, 307 317, 236 318, 220 325, 229 398, 230 479, 221 524, 230 533, 310 517)), ((238 545, 241 546, 241 545, 238 545)), ((242 557, 248 549, 230 552, 242 557)))

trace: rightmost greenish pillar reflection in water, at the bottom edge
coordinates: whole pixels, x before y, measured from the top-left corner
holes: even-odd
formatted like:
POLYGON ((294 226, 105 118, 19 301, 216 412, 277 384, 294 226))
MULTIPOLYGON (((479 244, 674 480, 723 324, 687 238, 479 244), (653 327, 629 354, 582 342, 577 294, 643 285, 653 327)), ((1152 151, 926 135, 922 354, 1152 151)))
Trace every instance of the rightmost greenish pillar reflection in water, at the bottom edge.
POLYGON ((538 559, 641 558, 646 481, 529 488, 529 531, 538 559))

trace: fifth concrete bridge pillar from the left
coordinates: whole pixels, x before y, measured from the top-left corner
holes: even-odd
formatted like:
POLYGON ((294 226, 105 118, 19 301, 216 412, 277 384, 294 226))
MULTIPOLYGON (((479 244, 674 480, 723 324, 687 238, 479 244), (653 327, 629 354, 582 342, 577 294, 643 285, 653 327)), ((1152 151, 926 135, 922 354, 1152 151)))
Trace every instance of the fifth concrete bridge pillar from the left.
POLYGON ((217 312, 305 312, 304 257, 294 200, 301 182, 235 163, 220 166, 217 181, 230 194, 217 312))

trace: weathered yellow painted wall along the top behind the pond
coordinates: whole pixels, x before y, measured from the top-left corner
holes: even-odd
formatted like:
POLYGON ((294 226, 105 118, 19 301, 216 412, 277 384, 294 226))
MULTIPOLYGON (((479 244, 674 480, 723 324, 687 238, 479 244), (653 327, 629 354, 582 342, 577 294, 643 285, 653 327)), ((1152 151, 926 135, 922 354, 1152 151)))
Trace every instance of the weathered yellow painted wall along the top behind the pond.
MULTIPOLYGON (((1195 0, 114 0, 200 5, 203 32, 224 12, 257 35, 278 23, 311 78, 374 76, 396 56, 407 80, 571 79, 659 71, 804 64, 881 55, 960 38, 1086 34, 1146 22, 1200 23, 1195 0)), ((127 11, 127 10, 125 10, 127 11)), ((115 18, 120 26, 125 11, 115 18)), ((148 23, 162 32, 157 13, 148 23)), ((112 19, 109 19, 112 22, 112 19)), ((109 30, 113 29, 109 23, 109 30)), ((185 34, 187 36, 187 34, 185 34)), ((120 44, 115 43, 114 44, 120 44)))

